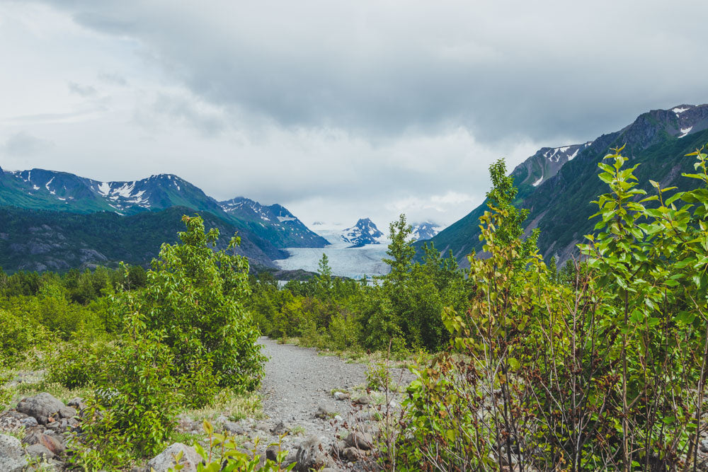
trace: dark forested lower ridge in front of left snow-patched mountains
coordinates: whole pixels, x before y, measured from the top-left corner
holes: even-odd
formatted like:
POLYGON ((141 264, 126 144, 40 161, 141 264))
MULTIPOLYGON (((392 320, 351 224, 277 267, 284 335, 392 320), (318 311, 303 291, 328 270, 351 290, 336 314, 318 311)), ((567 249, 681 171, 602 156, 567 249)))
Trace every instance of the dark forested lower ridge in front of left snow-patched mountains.
MULTIPOLYGON (((183 214, 194 209, 171 207, 122 217, 115 212, 68 213, 0 207, 0 266, 4 270, 54 270, 72 267, 115 267, 119 261, 147 266, 162 243, 176 243, 184 231, 183 214)), ((219 229, 217 248, 224 249, 239 231, 252 270, 275 267, 273 259, 287 253, 249 231, 237 229, 208 212, 198 212, 207 228, 219 229), (264 251, 265 248, 265 251, 264 251)))

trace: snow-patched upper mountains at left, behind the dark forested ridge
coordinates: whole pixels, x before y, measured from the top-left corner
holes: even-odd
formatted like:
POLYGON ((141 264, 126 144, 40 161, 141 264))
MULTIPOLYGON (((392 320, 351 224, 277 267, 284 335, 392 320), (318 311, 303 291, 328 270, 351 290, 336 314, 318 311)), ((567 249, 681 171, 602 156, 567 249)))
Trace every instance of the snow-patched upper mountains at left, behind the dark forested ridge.
MULTIPOLYGON (((248 247, 247 255, 256 263, 268 267, 273 267, 271 259, 287 257, 287 253, 280 251, 282 248, 321 248, 327 244, 324 238, 309 231, 307 226, 304 226, 285 207, 280 205, 263 207, 243 197, 219 203, 200 188, 172 174, 151 175, 149 178, 130 182, 101 182, 72 173, 38 168, 29 171, 0 169, 0 207, 43 211, 44 213, 38 214, 32 212, 15 214, 15 218, 26 217, 28 221, 33 221, 33 224, 37 222, 38 215, 44 215, 53 221, 54 216, 50 212, 71 214, 110 212, 120 217, 161 212, 177 207, 188 214, 205 212, 227 225, 224 228, 227 228, 231 234, 233 231, 239 231, 239 235, 244 240, 244 248, 248 247)), ((172 212, 168 213, 172 214, 172 212)), ((176 216, 175 221, 178 225, 181 224, 180 217, 181 214, 176 216)), ((95 221, 96 218, 86 219, 87 224, 89 221, 95 221)), ((160 217, 145 218, 150 221, 161 221, 160 217)), ((35 226, 27 226, 27 228, 31 227, 35 226)), ((131 222, 127 221, 125 227, 130 228, 131 222)), ((176 227, 181 229, 181 226, 176 227)), ((18 226, 18 229, 21 228, 22 225, 18 226)), ((4 225, 0 226, 0 232, 8 233, 4 225)), ((63 233, 57 231, 57 234, 63 233)), ((163 233, 158 231, 158 234, 163 233)), ((110 238, 109 234, 105 236, 110 238)), ((176 237, 176 231, 173 231, 170 237, 176 237)), ((164 241, 168 240, 163 238, 156 242, 155 249, 159 249, 160 243, 164 241)), ((71 260, 71 258, 62 260, 71 260)), ((142 262, 149 262, 149 259, 142 262)), ((54 267, 54 265, 50 264, 47 267, 54 267)), ((11 267, 6 266, 6 268, 11 267)))

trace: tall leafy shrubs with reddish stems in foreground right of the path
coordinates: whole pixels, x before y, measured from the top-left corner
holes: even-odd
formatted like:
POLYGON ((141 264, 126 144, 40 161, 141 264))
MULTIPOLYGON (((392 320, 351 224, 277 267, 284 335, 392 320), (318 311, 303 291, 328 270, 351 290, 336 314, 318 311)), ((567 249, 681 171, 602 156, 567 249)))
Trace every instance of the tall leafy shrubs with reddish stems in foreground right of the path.
MULTIPOLYGON (((700 188, 652 183, 607 156, 597 234, 557 282, 537 251, 503 237, 503 205, 481 218, 475 292, 445 311, 450 346, 409 387, 396 470, 678 470, 706 425, 706 154, 700 188), (644 197, 644 198, 642 198, 644 197)), ((513 218, 512 218, 513 220, 513 218)))

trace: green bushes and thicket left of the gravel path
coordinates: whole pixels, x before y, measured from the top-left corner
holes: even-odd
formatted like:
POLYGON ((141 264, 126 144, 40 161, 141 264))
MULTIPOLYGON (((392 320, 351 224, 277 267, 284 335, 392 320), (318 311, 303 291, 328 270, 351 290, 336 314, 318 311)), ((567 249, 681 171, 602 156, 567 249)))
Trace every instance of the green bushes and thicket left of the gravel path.
POLYGON ((89 410, 72 445, 78 466, 125 468, 153 456, 172 437, 178 410, 205 407, 223 388, 259 385, 259 333, 244 309, 248 260, 215 251, 219 231, 205 232, 201 217, 183 222, 181 243, 164 244, 148 272, 0 277, 0 316, 12 321, 0 330, 3 367, 36 347, 45 350, 47 382, 86 389, 89 410))

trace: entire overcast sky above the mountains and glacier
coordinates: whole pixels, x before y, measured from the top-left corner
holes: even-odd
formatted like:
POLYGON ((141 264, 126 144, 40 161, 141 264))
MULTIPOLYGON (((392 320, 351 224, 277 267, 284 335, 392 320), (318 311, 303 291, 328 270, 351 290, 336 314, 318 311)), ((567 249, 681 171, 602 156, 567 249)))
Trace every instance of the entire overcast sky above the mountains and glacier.
POLYGON ((703 0, 0 0, 0 167, 447 225, 542 146, 708 102, 703 0))

